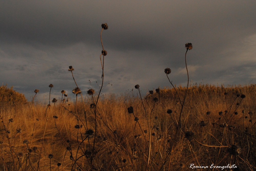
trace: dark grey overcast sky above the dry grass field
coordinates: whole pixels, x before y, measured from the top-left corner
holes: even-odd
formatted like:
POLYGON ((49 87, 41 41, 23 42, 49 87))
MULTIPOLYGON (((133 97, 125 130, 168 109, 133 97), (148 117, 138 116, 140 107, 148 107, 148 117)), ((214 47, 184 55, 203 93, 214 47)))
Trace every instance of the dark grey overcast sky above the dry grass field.
POLYGON ((256 82, 256 1, 5 1, 0 0, 0 81, 28 100, 78 86, 103 94, 191 84, 256 82), (91 81, 91 83, 89 82, 91 81), (97 81, 97 83, 96 83, 97 81), (109 84, 109 85, 108 85, 109 84))

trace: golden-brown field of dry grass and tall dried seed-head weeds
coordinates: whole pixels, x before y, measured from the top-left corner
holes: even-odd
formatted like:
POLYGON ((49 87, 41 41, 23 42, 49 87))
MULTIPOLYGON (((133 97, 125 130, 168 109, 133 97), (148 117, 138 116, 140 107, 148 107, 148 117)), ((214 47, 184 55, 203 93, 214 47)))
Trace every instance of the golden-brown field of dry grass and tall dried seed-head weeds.
MULTIPOLYGON (((102 30, 108 25, 102 24, 102 30)), ((102 42, 102 40, 101 40, 102 42)), ((185 45, 186 55, 192 44, 185 45)), ((101 88, 104 84, 103 48, 101 88)), ((186 63, 187 65, 187 63, 186 63)), ((255 170, 256 87, 194 85, 1 106, 0 170, 255 170)), ((164 70, 167 79, 171 73, 164 70)), ((189 83, 189 74, 187 71, 189 83)), ((71 78, 72 79, 72 78, 71 78)))

